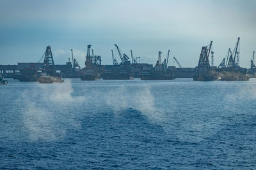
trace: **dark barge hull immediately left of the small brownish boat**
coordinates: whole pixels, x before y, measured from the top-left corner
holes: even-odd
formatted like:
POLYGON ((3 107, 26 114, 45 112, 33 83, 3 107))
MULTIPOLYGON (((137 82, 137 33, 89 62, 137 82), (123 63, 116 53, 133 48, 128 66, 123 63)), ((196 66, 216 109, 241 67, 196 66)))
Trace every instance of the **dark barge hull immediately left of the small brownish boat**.
POLYGON ((26 68, 20 70, 20 74, 18 75, 19 81, 37 81, 38 79, 38 70, 33 68, 26 68))

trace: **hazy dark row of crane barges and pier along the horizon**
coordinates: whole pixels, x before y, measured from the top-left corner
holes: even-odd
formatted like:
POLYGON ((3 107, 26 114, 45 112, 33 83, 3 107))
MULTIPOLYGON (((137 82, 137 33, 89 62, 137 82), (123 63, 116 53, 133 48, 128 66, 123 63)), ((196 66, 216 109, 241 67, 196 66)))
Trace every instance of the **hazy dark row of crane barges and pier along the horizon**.
MULTIPOLYGON (((134 78, 140 78, 141 80, 173 80, 175 78, 193 78, 195 81, 246 81, 250 77, 255 77, 255 52, 253 52, 252 60, 250 61, 250 69, 239 66, 241 59, 241 53, 239 52, 240 37, 237 38, 234 50, 228 48, 227 56, 223 58, 218 67, 214 66, 212 43, 213 41, 208 46, 202 46, 198 66, 195 68, 182 68, 176 57, 173 57, 173 59, 179 68, 176 69, 175 66, 168 66, 170 50, 168 50, 165 59, 161 56, 162 52, 159 51, 155 65, 140 63, 140 57, 134 57, 132 50, 130 58, 115 44, 118 57, 120 57, 120 63, 118 63, 117 57, 113 55, 113 50, 111 50, 113 65, 102 65, 102 57, 93 54, 92 45, 87 46, 87 54, 84 56, 84 67, 77 63, 72 49, 71 57, 67 57, 68 62, 65 65, 56 65, 54 64, 51 46, 47 46, 40 59, 40 61, 44 59, 44 62, 0 65, 0 71, 3 73, 2 76, 6 78, 14 78, 19 81, 38 81, 40 83, 62 83, 62 77, 81 78, 83 81, 100 80, 100 78, 103 80, 132 80, 134 78), (139 59, 139 62, 137 59, 139 59)), ((6 84, 6 81, 3 84, 6 84)))

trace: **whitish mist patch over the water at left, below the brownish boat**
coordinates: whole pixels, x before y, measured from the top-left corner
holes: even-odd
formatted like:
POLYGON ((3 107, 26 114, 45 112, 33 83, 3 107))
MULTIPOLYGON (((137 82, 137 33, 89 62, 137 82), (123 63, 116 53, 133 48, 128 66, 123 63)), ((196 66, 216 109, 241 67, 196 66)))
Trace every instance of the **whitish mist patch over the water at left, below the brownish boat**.
POLYGON ((58 140, 65 136, 68 127, 81 128, 77 114, 68 111, 68 108, 73 102, 79 106, 86 98, 72 96, 73 92, 70 80, 65 83, 38 84, 33 89, 22 92, 19 102, 24 103, 22 122, 29 139, 58 140), (40 98, 40 107, 33 101, 35 97, 40 98))

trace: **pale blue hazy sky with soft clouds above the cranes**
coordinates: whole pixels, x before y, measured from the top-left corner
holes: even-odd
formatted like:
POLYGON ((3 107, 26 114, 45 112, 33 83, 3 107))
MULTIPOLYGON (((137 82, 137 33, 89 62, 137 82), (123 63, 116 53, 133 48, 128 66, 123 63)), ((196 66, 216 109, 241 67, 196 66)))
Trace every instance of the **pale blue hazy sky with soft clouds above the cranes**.
MULTIPOLYGON (((114 44, 122 52, 155 64, 170 49, 168 66, 198 64, 202 46, 213 41, 214 65, 234 49, 238 36, 240 66, 250 67, 256 50, 254 0, 1 0, 0 64, 38 62, 47 45, 54 62, 74 57, 84 67, 87 45, 112 64, 114 44)), ((162 60, 163 60, 162 59, 162 60)))

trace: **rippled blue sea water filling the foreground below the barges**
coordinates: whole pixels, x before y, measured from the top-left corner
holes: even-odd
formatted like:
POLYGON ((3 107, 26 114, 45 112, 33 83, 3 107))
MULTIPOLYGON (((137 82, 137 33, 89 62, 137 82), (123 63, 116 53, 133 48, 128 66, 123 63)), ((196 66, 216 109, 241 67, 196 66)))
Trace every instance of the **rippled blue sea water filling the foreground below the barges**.
POLYGON ((0 169, 256 169, 256 79, 0 86, 0 169))

